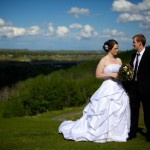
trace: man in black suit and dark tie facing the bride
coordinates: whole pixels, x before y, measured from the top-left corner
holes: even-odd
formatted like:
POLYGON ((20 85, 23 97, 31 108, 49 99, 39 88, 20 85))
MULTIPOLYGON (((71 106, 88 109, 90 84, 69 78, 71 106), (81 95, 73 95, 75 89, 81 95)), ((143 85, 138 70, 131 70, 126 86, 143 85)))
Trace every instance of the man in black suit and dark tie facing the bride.
POLYGON ((136 137, 138 129, 139 109, 142 102, 144 123, 147 129, 146 141, 150 142, 150 49, 145 48, 146 38, 137 34, 132 38, 135 53, 132 55, 130 65, 135 71, 135 77, 129 90, 131 107, 131 127, 128 140, 136 137))

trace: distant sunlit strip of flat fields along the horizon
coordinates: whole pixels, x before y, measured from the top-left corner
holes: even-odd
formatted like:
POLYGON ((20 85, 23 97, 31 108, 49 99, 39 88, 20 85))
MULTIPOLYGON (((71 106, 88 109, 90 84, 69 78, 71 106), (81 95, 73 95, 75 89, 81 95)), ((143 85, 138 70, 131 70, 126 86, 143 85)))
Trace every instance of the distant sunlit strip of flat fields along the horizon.
POLYGON ((95 60, 103 55, 102 50, 18 50, 0 49, 0 61, 86 61, 95 60))

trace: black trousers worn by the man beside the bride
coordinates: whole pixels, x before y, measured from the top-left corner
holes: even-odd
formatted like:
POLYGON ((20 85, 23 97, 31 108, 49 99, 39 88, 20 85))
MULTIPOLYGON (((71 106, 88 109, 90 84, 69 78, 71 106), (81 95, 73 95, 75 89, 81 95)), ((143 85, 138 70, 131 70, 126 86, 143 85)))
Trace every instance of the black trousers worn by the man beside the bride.
POLYGON ((150 137, 150 93, 140 93, 138 83, 133 82, 129 92, 129 97, 131 109, 130 134, 135 135, 138 129, 140 103, 142 102, 144 111, 144 123, 147 128, 147 136, 150 137))

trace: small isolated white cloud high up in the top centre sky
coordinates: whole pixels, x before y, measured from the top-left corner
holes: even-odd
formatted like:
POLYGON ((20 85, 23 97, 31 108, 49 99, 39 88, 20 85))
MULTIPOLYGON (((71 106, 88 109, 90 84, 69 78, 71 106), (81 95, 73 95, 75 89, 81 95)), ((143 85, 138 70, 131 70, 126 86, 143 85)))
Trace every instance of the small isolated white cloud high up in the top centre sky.
POLYGON ((72 7, 68 13, 73 15, 75 18, 79 18, 79 15, 88 15, 90 11, 86 8, 72 7))

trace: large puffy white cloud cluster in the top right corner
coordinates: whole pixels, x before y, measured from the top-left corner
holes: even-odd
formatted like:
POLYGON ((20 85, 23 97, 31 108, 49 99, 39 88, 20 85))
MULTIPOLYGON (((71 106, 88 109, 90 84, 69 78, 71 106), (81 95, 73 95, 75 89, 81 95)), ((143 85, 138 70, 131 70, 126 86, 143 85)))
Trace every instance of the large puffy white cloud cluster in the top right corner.
POLYGON ((112 10, 120 12, 117 22, 139 22, 139 27, 150 28, 150 1, 143 0, 133 4, 128 0, 115 0, 112 10))

